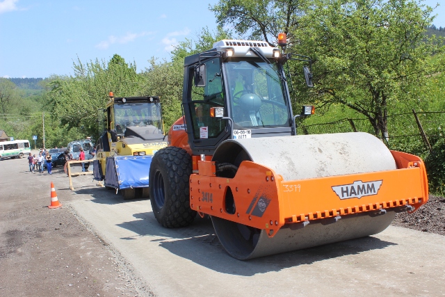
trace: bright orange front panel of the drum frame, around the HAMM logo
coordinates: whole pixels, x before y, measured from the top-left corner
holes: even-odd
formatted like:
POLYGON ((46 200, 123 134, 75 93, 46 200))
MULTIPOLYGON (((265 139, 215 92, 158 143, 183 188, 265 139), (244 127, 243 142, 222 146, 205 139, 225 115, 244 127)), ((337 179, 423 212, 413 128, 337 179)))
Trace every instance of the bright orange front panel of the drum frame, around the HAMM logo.
POLYGON ((415 197, 423 198, 423 202, 428 200, 421 182, 421 168, 282 182, 280 189, 280 201, 286 204, 282 214, 286 218, 325 209, 337 209, 340 215, 352 214, 360 204, 362 211, 396 207, 415 197), (350 197, 350 191, 362 196, 350 197))

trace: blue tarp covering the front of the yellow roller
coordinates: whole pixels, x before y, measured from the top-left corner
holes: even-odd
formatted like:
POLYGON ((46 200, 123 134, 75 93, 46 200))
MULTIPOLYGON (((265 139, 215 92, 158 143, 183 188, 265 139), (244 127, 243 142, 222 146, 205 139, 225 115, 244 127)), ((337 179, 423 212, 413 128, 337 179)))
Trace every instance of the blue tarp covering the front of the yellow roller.
POLYGON ((148 186, 152 156, 109 156, 106 158, 105 186, 123 190, 148 186))

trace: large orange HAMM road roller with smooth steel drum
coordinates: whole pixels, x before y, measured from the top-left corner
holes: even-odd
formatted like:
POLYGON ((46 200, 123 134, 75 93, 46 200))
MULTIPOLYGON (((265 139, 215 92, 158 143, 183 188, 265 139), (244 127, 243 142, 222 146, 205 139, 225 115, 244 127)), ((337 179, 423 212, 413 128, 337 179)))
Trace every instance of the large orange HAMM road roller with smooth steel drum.
POLYGON ((289 59, 305 64, 312 86, 308 57, 262 41, 221 40, 185 58, 183 117, 149 170, 161 225, 209 215, 225 250, 244 260, 377 234, 427 202, 419 157, 361 132, 296 135, 289 59))

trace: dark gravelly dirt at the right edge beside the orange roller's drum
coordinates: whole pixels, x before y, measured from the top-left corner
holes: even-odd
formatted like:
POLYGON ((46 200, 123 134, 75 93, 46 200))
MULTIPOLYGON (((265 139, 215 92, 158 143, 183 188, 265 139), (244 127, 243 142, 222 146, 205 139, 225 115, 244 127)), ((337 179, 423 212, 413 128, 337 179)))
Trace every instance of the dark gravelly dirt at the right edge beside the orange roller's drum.
POLYGON ((391 225, 445 235, 445 198, 430 195, 414 214, 397 214, 391 225))

